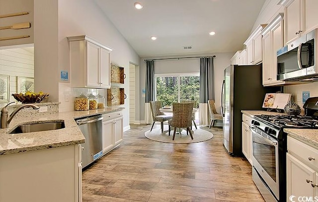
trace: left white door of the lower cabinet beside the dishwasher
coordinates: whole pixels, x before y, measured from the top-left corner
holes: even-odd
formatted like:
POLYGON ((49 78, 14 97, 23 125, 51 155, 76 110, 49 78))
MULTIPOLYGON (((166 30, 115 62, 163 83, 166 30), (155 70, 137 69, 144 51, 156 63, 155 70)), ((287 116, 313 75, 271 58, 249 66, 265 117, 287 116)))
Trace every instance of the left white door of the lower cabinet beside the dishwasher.
POLYGON ((105 121, 103 124, 103 153, 114 147, 114 120, 105 121))

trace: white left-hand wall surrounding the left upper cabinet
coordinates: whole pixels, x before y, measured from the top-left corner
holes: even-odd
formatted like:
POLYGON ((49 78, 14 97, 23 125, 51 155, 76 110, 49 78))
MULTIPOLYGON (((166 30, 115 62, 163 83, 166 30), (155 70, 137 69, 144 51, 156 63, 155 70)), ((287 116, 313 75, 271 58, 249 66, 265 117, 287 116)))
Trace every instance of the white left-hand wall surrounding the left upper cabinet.
MULTIPOLYGON (((139 64, 140 58, 136 51, 93 1, 34 0, 34 9, 36 89, 39 86, 50 89, 51 101, 60 101, 61 105, 64 104, 63 110, 74 110, 73 105, 69 104, 71 100, 67 101, 64 96, 70 94, 67 84, 60 85, 62 92, 59 92, 59 83, 69 83, 60 80, 60 71, 69 71, 69 77, 71 73, 68 36, 87 35, 111 47, 111 62, 125 67, 126 75, 129 75, 130 62, 139 64), (40 66, 41 70, 38 71, 37 66, 40 66), (38 77, 41 78, 37 79, 38 77)), ((129 77, 125 79, 124 88, 129 91, 129 77)), ((120 106, 125 107, 124 127, 129 127, 129 98, 120 106)))

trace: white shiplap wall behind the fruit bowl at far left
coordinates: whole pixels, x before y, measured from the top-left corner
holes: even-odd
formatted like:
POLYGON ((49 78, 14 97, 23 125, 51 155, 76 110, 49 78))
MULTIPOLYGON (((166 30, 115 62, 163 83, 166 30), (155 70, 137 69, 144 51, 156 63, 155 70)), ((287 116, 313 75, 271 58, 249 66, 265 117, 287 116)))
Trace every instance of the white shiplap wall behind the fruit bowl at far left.
POLYGON ((10 76, 9 101, 16 101, 11 94, 20 93, 17 89, 17 77, 34 77, 33 50, 4 49, 0 50, 0 74, 10 76))

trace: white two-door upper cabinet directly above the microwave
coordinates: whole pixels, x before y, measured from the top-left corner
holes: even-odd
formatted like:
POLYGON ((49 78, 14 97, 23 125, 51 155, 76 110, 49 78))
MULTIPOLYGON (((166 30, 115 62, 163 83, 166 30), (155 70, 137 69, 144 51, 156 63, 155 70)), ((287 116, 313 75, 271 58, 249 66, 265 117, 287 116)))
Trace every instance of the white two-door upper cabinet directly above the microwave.
POLYGON ((286 0, 285 44, 318 26, 318 0, 286 0))

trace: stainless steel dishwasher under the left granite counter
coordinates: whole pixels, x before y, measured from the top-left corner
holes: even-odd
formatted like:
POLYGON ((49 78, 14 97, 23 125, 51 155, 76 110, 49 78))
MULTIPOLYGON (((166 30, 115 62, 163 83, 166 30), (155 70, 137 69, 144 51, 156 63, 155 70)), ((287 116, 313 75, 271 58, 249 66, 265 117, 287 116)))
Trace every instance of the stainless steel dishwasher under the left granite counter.
POLYGON ((81 144, 82 168, 103 154, 102 119, 101 115, 75 119, 85 137, 85 143, 81 144))

